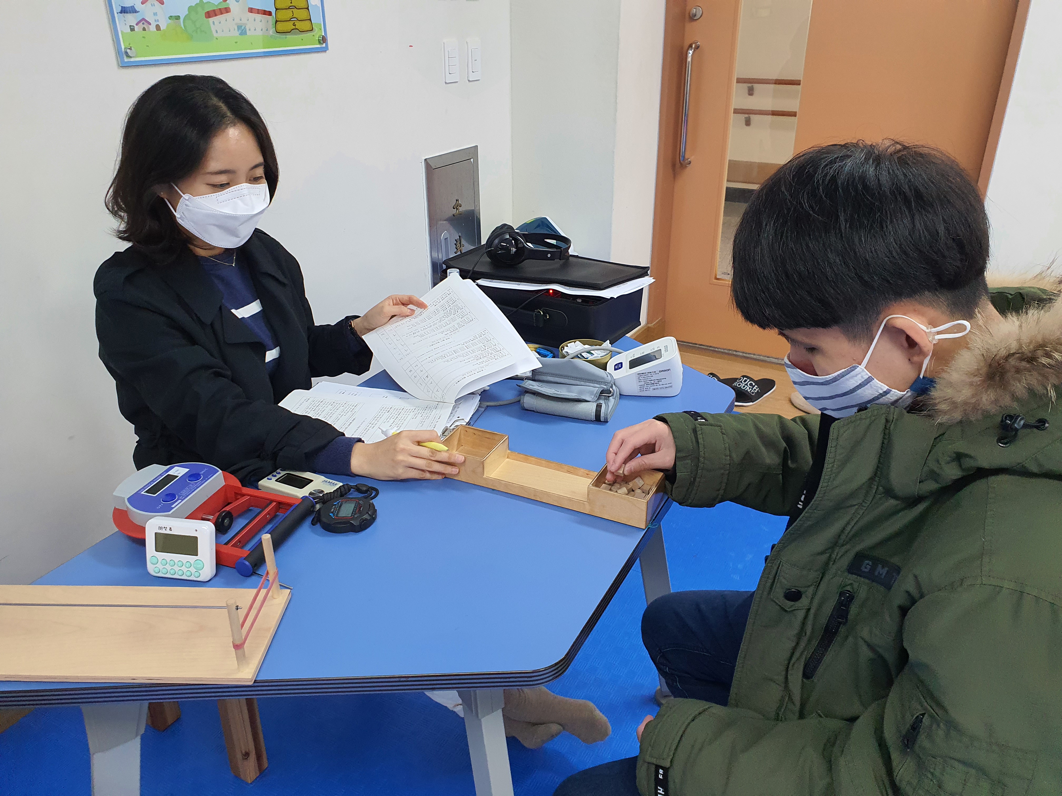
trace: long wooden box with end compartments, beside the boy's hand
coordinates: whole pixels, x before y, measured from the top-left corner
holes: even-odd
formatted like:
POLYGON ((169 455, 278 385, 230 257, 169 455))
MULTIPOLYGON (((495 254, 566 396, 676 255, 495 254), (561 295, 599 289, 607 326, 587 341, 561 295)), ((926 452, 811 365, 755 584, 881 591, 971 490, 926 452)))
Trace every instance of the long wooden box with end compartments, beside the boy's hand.
POLYGON ((666 500, 664 473, 639 473, 645 498, 602 489, 605 468, 597 472, 509 450, 509 436, 472 426, 459 426, 444 440, 465 457, 461 472, 449 478, 519 495, 573 512, 590 514, 635 527, 646 527, 666 500))

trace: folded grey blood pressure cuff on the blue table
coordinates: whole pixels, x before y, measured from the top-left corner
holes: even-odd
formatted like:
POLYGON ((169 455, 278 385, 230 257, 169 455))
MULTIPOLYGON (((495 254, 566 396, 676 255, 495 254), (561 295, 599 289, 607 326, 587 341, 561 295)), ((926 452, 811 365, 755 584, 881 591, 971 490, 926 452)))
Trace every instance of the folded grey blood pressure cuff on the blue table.
POLYGON ((612 374, 582 360, 539 359, 520 384, 520 405, 545 415, 577 420, 609 422, 619 403, 619 390, 612 374))

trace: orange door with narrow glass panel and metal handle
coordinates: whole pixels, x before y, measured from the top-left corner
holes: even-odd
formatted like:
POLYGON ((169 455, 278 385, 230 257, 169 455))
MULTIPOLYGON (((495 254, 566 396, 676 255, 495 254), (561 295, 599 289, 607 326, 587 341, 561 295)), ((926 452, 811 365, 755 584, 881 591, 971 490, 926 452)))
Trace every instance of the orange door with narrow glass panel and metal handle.
POLYGON ((1017 4, 669 2, 649 322, 662 318, 661 333, 680 341, 783 356, 773 331, 732 306, 730 240, 742 203, 793 152, 856 138, 940 146, 977 180, 1017 4))

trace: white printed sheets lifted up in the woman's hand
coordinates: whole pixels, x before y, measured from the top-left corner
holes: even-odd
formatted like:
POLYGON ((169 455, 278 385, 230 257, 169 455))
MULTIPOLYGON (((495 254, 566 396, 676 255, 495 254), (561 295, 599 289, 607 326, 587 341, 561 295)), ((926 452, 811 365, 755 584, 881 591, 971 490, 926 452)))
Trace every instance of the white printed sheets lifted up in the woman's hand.
POLYGON ((428 309, 363 338, 391 378, 414 397, 453 403, 541 366, 509 318, 470 281, 449 276, 422 298, 428 309))

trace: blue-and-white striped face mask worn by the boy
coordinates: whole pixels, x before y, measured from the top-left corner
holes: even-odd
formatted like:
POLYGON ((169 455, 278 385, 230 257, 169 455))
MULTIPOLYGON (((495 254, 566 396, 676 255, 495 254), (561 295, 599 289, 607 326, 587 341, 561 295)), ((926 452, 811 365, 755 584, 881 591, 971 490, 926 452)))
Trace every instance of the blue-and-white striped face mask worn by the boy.
MULTIPOLYGON (((953 321, 943 326, 929 329, 919 324, 914 318, 907 317, 907 315, 889 315, 889 317, 881 322, 877 334, 874 335, 874 342, 870 344, 870 350, 867 351, 863 361, 858 365, 850 365, 843 370, 838 370, 836 374, 830 374, 829 376, 809 376, 790 362, 789 354, 786 354, 786 370, 789 371, 789 378, 792 379, 796 392, 804 396, 804 399, 817 410, 834 417, 854 415, 857 410, 874 403, 884 403, 890 406, 900 406, 901 409, 906 409, 910 405, 910 402, 914 400, 913 391, 910 388, 905 392, 893 390, 875 379, 867 369, 867 363, 870 362, 870 356, 874 352, 874 346, 877 345, 878 338, 881 336, 886 322, 894 317, 906 317, 908 321, 918 324, 920 329, 928 332, 930 345, 945 338, 961 338, 970 331, 969 321, 953 321), (953 326, 959 325, 965 327, 961 332, 953 332, 950 334, 937 333, 943 329, 949 329, 953 326)), ((919 374, 919 379, 926 375, 926 367, 928 365, 929 357, 926 357, 922 362, 922 373, 919 374)), ((918 379, 915 379, 917 381, 918 379)))

